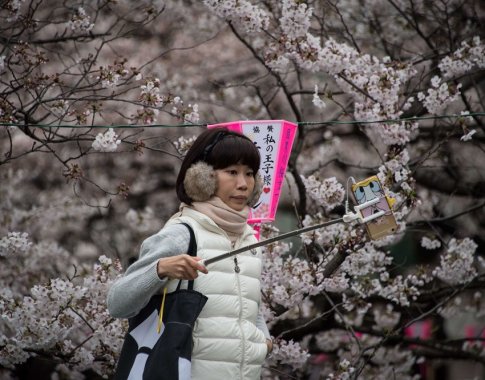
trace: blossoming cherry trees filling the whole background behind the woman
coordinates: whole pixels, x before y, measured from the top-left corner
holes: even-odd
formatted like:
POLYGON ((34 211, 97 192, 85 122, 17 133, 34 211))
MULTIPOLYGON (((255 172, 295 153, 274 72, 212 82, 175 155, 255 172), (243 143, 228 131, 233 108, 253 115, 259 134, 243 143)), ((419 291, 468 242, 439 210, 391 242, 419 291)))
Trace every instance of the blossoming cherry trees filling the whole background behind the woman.
POLYGON ((120 262, 177 209, 193 124, 246 119, 298 123, 262 238, 341 217, 342 184, 370 175, 398 224, 263 248, 264 378, 411 380, 483 359, 456 327, 485 315, 476 0, 44 3, 1 9, 0 377, 39 357, 53 379, 113 373, 120 262), (440 334, 403 333, 423 318, 440 334))

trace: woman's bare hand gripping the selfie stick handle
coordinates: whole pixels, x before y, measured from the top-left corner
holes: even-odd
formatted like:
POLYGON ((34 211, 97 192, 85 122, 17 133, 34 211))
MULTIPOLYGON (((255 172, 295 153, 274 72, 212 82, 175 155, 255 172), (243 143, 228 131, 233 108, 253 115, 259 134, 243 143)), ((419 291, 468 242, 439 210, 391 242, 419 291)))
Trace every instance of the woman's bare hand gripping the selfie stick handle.
POLYGON ((158 260, 158 277, 169 279, 194 280, 199 275, 198 271, 207 274, 207 268, 199 263, 200 257, 190 255, 177 255, 164 257, 158 260))

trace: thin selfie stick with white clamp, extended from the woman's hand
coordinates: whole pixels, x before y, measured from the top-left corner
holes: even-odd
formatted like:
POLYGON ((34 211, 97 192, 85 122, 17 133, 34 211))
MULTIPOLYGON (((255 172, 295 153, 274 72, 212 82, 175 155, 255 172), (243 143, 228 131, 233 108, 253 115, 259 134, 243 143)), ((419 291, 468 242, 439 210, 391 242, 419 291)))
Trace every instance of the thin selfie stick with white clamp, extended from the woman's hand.
POLYGON ((262 240, 260 242, 254 243, 254 244, 246 245, 244 247, 235 249, 234 251, 223 253, 222 255, 213 257, 211 259, 202 260, 199 263, 202 264, 203 266, 207 266, 207 265, 213 264, 217 261, 224 260, 224 259, 227 259, 228 257, 237 255, 238 253, 250 251, 250 250, 252 250, 254 248, 258 248, 258 247, 263 247, 265 245, 268 245, 268 244, 271 244, 271 243, 274 243, 274 242, 277 242, 277 241, 280 241, 280 240, 284 240, 284 239, 287 239, 287 238, 295 236, 295 235, 303 234, 305 232, 318 230, 320 228, 327 227, 327 226, 330 226, 330 225, 335 224, 335 223, 341 223, 341 222, 350 223, 354 220, 357 220, 359 223, 367 223, 367 222, 369 222, 373 219, 379 218, 382 215, 384 215, 384 211, 376 212, 375 214, 369 215, 368 217, 364 218, 362 216, 362 213, 360 212, 360 210, 378 203, 379 200, 380 200, 379 198, 374 198, 374 199, 372 199, 368 202, 365 202, 365 203, 362 203, 360 205, 355 206, 354 208, 355 208, 355 210, 357 210, 357 212, 355 212, 355 213, 349 212, 348 206, 346 205, 347 213, 342 218, 332 219, 332 220, 329 220, 328 222, 315 224, 313 226, 308 226, 308 227, 300 228, 298 230, 290 231, 290 232, 284 233, 282 235, 278 235, 278 236, 275 236, 275 237, 272 237, 272 238, 269 238, 269 239, 266 239, 266 240, 262 240))

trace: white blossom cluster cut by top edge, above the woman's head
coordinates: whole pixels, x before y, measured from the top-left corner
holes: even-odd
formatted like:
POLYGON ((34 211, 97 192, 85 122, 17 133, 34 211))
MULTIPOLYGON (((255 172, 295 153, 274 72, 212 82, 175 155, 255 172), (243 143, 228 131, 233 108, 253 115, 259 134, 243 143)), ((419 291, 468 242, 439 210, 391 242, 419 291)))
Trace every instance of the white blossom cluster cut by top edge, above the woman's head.
POLYGON ((268 14, 247 0, 204 0, 204 4, 216 15, 244 28, 246 32, 258 32, 268 27, 268 14))

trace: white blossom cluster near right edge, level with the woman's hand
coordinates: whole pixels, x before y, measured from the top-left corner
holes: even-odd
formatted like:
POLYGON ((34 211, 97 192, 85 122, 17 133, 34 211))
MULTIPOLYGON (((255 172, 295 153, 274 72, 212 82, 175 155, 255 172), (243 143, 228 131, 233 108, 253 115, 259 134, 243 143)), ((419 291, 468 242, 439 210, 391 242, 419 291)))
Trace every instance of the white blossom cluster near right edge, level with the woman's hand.
POLYGON ((440 266, 433 270, 433 275, 442 281, 457 285, 473 279, 477 272, 473 266, 477 244, 470 238, 451 239, 446 252, 440 256, 440 266))

